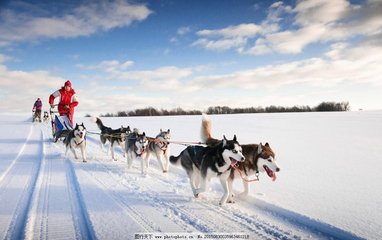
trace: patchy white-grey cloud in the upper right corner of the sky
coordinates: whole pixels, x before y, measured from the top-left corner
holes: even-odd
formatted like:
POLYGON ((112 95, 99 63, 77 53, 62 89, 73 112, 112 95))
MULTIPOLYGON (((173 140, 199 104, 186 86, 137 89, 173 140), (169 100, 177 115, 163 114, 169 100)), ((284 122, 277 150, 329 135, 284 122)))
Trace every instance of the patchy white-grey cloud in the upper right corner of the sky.
POLYGON ((251 55, 298 54, 313 43, 343 42, 356 36, 366 39, 381 34, 381 11, 382 1, 355 5, 346 0, 306 0, 298 1, 294 7, 279 1, 269 7, 267 18, 260 25, 246 23, 201 30, 193 46, 218 51, 236 49, 251 55))

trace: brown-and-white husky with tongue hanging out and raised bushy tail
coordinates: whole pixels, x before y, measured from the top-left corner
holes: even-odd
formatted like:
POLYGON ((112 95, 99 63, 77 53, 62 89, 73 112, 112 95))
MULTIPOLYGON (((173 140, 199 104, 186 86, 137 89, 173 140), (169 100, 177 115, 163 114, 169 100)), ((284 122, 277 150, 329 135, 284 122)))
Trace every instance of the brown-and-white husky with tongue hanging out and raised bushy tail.
MULTIPOLYGON (((211 120, 207 115, 203 114, 202 126, 201 126, 201 139, 202 142, 206 143, 208 146, 214 146, 219 144, 220 140, 217 140, 211 135, 211 120)), ((237 164, 237 169, 231 169, 231 174, 228 179, 229 187, 232 189, 232 183, 235 178, 241 178, 239 170, 245 176, 253 176, 259 174, 259 172, 266 172, 273 181, 276 180, 276 172, 280 171, 279 166, 275 161, 275 154, 269 145, 259 144, 243 144, 241 145, 243 149, 243 155, 245 157, 244 162, 239 162, 237 164)), ((248 181, 242 179, 244 185, 244 192, 240 195, 248 195, 248 181)), ((230 195, 228 201, 233 202, 232 195, 230 195)))

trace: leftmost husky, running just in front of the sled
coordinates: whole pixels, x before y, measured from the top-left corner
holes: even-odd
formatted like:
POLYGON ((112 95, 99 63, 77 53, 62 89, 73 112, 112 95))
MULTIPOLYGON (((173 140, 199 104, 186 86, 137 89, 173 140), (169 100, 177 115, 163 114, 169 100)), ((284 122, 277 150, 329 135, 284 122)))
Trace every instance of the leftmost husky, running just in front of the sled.
POLYGON ((86 128, 83 123, 76 124, 73 130, 68 133, 68 136, 64 140, 66 145, 65 156, 68 154, 68 150, 72 150, 74 157, 78 159, 75 149, 79 148, 82 154, 82 161, 86 162, 86 128))

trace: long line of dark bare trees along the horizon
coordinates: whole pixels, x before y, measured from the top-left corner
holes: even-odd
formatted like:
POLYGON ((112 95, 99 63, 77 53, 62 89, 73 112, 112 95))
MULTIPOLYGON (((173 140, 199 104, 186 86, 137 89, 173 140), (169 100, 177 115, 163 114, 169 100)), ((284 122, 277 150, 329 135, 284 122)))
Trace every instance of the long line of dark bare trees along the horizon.
MULTIPOLYGON (((282 113, 282 112, 341 112, 349 111, 349 102, 322 102, 315 107, 310 106, 268 106, 268 107, 248 107, 248 108, 230 108, 227 106, 213 106, 203 111, 211 114, 239 114, 239 113, 282 113)), ((153 107, 135 109, 131 111, 120 111, 117 113, 101 114, 100 117, 138 117, 138 116, 174 116, 174 115, 201 115, 200 110, 183 110, 178 107, 172 110, 156 109, 153 107)), ((87 114, 86 116, 90 116, 87 114)))

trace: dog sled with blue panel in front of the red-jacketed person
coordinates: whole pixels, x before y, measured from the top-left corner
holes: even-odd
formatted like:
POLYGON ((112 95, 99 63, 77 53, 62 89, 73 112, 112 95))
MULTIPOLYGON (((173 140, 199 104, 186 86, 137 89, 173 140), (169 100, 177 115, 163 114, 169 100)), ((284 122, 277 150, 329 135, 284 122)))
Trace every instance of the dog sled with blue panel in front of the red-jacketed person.
POLYGON ((69 117, 67 115, 60 116, 59 112, 50 108, 50 119, 52 125, 52 137, 53 141, 57 142, 59 139, 65 138, 68 133, 73 130, 73 126, 70 123, 69 117))

